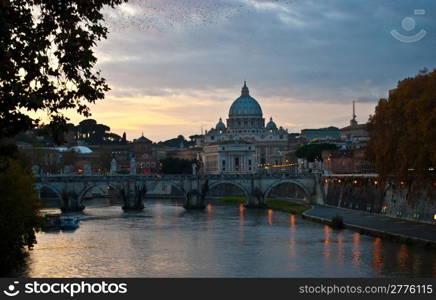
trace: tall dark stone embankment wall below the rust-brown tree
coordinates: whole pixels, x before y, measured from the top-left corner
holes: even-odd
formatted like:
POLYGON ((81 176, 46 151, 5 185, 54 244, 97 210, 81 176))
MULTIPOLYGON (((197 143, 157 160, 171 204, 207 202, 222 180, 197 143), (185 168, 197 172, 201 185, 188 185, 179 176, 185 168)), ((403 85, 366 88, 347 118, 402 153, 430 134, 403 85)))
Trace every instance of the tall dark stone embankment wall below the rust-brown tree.
POLYGON ((324 204, 436 225, 436 187, 383 184, 376 176, 324 176, 324 204))

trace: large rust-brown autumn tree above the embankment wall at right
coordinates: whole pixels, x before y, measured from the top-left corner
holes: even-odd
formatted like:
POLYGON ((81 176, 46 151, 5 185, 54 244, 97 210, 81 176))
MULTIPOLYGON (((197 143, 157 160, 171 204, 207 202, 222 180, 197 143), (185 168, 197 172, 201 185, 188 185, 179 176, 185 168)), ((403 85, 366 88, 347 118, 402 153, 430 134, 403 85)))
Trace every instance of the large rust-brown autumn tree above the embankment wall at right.
POLYGON ((382 178, 434 179, 436 70, 400 81, 370 117, 367 155, 382 178))

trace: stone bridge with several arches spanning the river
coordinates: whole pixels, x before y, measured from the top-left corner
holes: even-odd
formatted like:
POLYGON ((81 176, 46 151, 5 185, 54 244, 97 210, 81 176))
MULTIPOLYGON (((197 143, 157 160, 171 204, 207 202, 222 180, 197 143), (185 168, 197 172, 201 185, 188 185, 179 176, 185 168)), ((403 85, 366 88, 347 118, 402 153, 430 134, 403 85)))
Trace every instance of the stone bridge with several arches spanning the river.
POLYGON ((118 192, 123 209, 144 208, 144 196, 158 183, 169 184, 178 189, 184 198, 186 209, 206 206, 205 198, 212 188, 222 184, 237 186, 246 196, 247 207, 264 207, 265 199, 272 189, 281 184, 298 186, 307 201, 322 203, 321 180, 307 175, 47 175, 36 178, 36 190, 48 188, 61 201, 62 211, 84 209, 83 200, 90 190, 107 186, 118 192))

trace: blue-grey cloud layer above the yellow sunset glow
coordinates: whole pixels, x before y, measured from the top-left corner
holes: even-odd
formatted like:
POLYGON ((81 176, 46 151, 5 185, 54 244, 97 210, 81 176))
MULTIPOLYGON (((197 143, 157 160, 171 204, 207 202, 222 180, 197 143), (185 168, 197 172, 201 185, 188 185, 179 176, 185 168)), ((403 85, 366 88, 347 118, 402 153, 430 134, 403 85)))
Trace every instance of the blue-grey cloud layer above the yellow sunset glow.
POLYGON ((435 65, 434 33, 416 44, 389 33, 415 8, 427 12, 418 24, 436 30, 430 0, 131 1, 109 18, 118 27, 99 49, 109 57, 101 67, 115 86, 143 93, 246 79, 262 96, 374 99, 435 65))

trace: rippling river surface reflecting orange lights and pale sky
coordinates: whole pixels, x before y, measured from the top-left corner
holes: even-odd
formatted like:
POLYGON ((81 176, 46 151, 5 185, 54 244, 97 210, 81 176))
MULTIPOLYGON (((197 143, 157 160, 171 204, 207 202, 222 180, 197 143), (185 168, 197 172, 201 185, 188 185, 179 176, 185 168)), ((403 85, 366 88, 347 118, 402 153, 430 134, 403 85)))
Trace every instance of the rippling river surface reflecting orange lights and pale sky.
POLYGON ((277 211, 148 201, 90 207, 74 233, 38 234, 30 277, 433 277, 436 251, 277 211))

